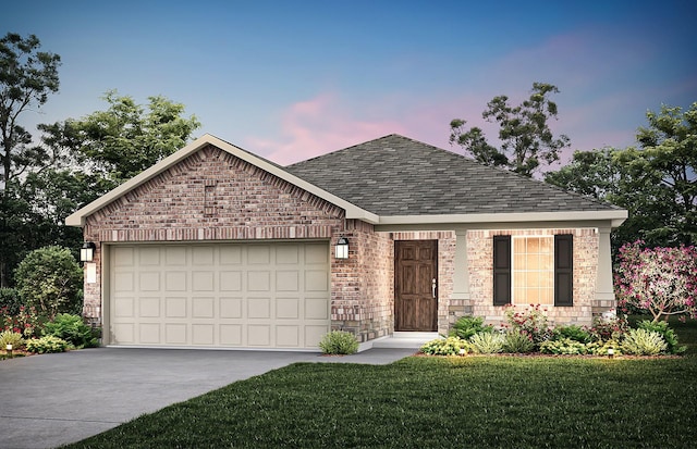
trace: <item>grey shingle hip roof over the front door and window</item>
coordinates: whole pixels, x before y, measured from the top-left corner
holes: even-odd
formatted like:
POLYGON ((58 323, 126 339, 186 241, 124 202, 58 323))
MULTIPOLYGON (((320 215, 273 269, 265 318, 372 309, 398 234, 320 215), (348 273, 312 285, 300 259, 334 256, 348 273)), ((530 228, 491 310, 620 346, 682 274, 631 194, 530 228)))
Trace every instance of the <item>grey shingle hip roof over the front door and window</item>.
POLYGON ((620 210, 395 134, 285 171, 378 215, 620 210))

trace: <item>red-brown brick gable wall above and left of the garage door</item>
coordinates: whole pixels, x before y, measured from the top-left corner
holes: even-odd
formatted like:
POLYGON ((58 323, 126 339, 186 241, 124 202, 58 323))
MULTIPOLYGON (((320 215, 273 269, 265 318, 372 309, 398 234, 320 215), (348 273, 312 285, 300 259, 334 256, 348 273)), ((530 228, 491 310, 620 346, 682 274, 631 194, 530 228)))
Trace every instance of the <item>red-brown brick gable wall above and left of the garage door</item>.
MULTIPOLYGON (((86 220, 84 237, 103 242, 327 239, 344 211, 216 147, 189 155, 86 220)), ((332 269, 333 269, 332 257, 332 269)), ((85 285, 85 316, 101 320, 101 285, 85 285)))

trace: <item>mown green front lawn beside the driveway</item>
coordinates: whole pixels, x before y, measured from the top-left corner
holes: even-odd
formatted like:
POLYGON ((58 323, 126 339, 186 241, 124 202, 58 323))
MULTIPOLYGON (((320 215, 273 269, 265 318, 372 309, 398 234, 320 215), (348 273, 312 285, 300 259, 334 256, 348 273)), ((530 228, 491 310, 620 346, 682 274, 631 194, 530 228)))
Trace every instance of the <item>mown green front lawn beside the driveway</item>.
POLYGON ((696 324, 683 358, 298 363, 70 448, 694 447, 696 324))

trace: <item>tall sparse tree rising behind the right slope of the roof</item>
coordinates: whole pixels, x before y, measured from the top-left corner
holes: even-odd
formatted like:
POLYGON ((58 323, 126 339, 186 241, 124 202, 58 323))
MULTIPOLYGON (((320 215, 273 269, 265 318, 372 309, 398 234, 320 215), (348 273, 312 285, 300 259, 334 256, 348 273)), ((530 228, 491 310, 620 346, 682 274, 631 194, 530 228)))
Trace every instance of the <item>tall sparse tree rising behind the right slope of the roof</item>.
POLYGON ((481 116, 499 124, 501 148, 487 142, 481 128, 464 130, 466 121, 450 123, 450 142, 457 144, 477 161, 487 165, 504 166, 525 176, 533 176, 542 162, 559 160, 559 150, 570 146, 565 135, 555 138, 548 125, 557 119, 557 103, 549 97, 558 93, 557 86, 533 83, 530 97, 517 107, 509 104, 509 97, 498 96, 487 103, 481 116))

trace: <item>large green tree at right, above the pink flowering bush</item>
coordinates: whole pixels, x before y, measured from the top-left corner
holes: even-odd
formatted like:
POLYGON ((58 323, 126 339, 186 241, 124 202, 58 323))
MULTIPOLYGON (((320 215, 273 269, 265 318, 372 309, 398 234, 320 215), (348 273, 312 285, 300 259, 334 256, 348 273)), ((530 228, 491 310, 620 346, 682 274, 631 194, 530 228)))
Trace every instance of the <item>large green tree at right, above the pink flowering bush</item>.
POLYGON ((572 162, 546 174, 562 188, 627 209, 613 248, 641 239, 647 246, 697 244, 697 103, 681 113, 663 107, 647 113, 640 148, 577 151, 572 162))

